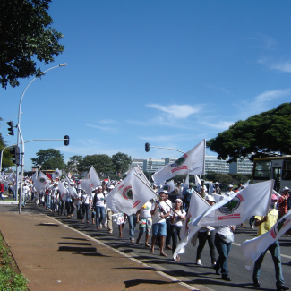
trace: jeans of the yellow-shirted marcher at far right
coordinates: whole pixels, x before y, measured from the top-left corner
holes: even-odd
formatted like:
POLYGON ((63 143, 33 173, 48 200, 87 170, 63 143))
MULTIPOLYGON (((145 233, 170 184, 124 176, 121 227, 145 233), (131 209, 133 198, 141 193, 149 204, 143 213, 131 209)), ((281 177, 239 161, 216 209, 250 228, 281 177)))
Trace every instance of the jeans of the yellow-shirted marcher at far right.
POLYGON ((282 266, 281 266, 281 252, 280 252, 280 245, 278 244, 278 241, 276 241, 273 244, 270 244, 269 248, 261 253, 261 256, 255 261, 253 273, 252 273, 252 279, 259 279, 261 275, 261 264, 264 260, 264 256, 267 251, 270 251, 270 254, 272 255, 272 259, 274 261, 275 266, 275 274, 276 274, 276 286, 282 287, 285 285, 284 278, 282 275, 282 266))

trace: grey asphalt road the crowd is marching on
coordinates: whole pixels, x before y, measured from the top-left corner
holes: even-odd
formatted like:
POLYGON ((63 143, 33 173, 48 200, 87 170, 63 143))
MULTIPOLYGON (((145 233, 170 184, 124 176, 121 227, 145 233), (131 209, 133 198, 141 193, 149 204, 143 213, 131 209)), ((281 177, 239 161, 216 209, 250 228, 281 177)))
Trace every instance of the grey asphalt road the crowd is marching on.
MULTIPOLYGON (((0 211, 17 211, 17 207, 1 205, 0 211)), ((129 254, 158 270, 163 270, 168 275, 179 278, 189 285, 203 285, 204 287, 217 291, 276 290, 275 270, 270 253, 266 254, 262 264, 260 278, 261 288, 252 287, 252 270, 249 271, 244 268, 244 256, 239 245, 244 243, 246 239, 251 239, 256 235, 256 229, 251 229, 247 221, 244 223, 246 228, 237 227, 235 231, 235 243, 232 245, 232 249, 228 257, 229 276, 232 278, 232 281, 226 282, 223 281, 220 276, 217 276, 215 271, 211 268, 208 244, 205 245, 202 253, 202 266, 195 264, 197 246, 193 247, 192 244, 188 244, 186 246, 185 253, 180 255, 181 261, 177 263, 172 260, 171 251, 165 251, 168 254, 167 258, 159 256, 158 245, 156 247, 156 253, 151 254, 150 250, 143 246, 144 236, 141 237, 141 244, 130 244, 128 224, 124 227, 124 238, 121 239, 118 235, 116 223, 114 223, 113 234, 108 235, 107 229, 105 228, 97 230, 96 226, 81 223, 80 220, 76 219, 76 213, 74 213, 73 218, 67 218, 64 216, 58 216, 48 210, 44 210, 42 207, 36 207, 33 204, 28 204, 23 209, 23 212, 26 211, 45 213, 48 216, 56 218, 62 223, 73 227, 86 235, 97 238, 103 243, 106 243, 121 252, 129 254)), ((135 238, 138 236, 138 232, 139 230, 137 226, 135 228, 135 238)), ((291 265, 288 265, 288 262, 291 261, 291 237, 284 235, 279 240, 279 243, 281 247, 281 261, 285 285, 287 287, 291 287, 291 265)))

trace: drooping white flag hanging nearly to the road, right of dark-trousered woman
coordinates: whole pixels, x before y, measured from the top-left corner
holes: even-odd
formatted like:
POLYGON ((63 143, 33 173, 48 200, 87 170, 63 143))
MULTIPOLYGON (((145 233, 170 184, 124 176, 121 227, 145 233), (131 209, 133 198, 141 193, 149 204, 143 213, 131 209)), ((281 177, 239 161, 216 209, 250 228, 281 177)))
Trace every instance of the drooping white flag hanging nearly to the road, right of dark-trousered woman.
POLYGON ((198 193, 193 192, 191 196, 189 210, 180 232, 181 241, 180 244, 177 245, 173 254, 174 260, 178 253, 186 246, 186 244, 191 241, 193 235, 195 235, 197 231, 201 228, 201 226, 193 226, 193 219, 201 216, 201 214, 209 208, 210 204, 207 203, 198 193))

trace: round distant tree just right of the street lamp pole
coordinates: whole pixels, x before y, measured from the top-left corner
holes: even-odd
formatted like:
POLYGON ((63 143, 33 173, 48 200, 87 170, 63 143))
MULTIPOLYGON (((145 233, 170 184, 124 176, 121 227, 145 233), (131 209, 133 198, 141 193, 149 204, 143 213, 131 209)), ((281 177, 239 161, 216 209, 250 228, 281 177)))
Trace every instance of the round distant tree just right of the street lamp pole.
POLYGON ((31 158, 34 166, 40 165, 42 170, 56 170, 64 168, 64 155, 59 150, 39 150, 37 158, 31 158))

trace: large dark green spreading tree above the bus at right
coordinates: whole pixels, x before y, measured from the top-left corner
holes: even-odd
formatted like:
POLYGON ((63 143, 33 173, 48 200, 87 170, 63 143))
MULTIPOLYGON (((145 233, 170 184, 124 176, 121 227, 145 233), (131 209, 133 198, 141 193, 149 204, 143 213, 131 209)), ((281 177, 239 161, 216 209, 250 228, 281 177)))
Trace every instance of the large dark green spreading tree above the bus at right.
POLYGON ((274 154, 291 154, 291 103, 239 120, 227 131, 207 141, 207 147, 218 153, 218 159, 229 162, 274 154))

